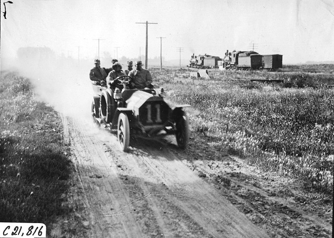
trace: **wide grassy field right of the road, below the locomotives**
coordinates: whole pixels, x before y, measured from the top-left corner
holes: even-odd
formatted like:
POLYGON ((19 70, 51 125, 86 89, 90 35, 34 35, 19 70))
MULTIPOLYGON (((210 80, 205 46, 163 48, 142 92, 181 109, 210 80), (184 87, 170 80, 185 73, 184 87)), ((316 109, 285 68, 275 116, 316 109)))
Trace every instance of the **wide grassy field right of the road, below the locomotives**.
POLYGON ((215 138, 217 146, 228 145, 265 170, 332 194, 333 89, 269 84, 268 90, 268 84, 248 80, 267 74, 281 77, 281 72, 223 71, 203 79, 187 71, 152 73, 157 86, 169 93, 166 100, 193 106, 188 109, 191 130, 215 138))

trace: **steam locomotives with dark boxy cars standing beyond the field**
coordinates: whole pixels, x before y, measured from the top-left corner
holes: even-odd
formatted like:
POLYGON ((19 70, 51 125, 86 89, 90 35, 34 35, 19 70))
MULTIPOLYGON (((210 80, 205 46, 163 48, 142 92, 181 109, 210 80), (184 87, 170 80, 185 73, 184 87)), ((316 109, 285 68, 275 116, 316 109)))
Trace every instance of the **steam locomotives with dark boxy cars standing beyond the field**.
POLYGON ((190 60, 191 68, 221 68, 236 70, 267 69, 276 70, 282 68, 282 54, 258 54, 255 51, 232 51, 228 50, 225 57, 209 56, 208 54, 193 56, 190 60))

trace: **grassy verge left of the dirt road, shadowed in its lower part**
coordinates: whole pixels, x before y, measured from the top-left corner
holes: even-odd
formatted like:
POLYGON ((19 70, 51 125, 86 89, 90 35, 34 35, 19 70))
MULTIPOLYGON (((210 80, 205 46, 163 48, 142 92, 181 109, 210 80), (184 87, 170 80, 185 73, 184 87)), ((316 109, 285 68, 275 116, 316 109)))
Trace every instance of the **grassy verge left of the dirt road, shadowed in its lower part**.
POLYGON ((0 222, 48 227, 69 209, 63 206, 70 160, 61 118, 34 100, 28 79, 2 71, 0 85, 0 222))

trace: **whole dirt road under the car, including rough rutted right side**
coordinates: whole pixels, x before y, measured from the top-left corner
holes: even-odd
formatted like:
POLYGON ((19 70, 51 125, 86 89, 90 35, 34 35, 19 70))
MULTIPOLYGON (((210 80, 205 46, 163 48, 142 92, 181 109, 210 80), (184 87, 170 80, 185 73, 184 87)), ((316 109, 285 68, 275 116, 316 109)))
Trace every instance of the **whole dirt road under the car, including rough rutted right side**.
POLYGON ((76 168, 53 237, 331 237, 332 202, 302 194, 210 138, 137 139, 128 153, 89 120, 63 117, 76 168))

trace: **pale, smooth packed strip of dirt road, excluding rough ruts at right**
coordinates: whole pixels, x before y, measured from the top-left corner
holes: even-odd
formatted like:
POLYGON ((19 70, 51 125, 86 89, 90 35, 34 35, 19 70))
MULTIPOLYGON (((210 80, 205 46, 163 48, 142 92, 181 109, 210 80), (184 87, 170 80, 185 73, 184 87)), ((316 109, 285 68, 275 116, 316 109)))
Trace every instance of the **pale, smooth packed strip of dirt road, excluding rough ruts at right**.
POLYGON ((63 123, 89 237, 268 237, 168 144, 139 140, 123 153, 109 132, 91 131, 82 119, 63 117, 63 123))

